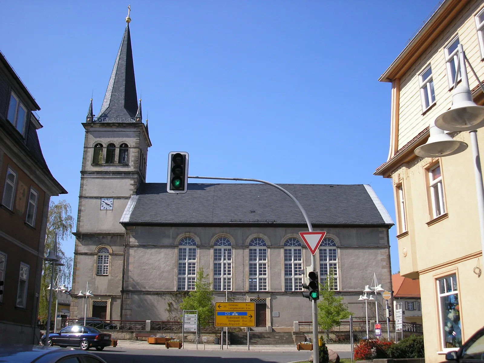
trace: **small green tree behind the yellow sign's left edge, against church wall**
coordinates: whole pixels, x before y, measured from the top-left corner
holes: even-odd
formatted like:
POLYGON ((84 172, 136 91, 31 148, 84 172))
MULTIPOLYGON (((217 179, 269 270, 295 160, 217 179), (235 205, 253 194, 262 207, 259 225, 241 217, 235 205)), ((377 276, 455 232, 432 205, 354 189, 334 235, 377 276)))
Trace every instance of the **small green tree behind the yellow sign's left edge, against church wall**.
POLYGON ((215 314, 213 305, 212 284, 209 274, 203 273, 203 267, 197 271, 195 290, 190 291, 180 304, 181 310, 198 310, 198 322, 201 327, 206 327, 215 314))

